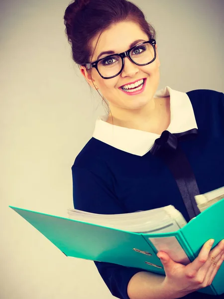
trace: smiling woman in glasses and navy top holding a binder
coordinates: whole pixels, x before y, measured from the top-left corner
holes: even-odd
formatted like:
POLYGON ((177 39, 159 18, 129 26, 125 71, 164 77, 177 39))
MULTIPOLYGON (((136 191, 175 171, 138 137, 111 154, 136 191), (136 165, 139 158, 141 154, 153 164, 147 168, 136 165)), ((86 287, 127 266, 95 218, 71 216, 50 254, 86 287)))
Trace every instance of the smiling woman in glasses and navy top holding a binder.
MULTIPOLYGON (((75 208, 116 214, 172 204, 189 221, 198 213, 194 196, 224 185, 224 94, 157 91, 155 31, 129 1, 75 1, 64 19, 74 61, 110 110, 72 167, 75 208)), ((195 292, 224 260, 223 241, 211 248, 208 240, 187 266, 159 252, 165 277, 95 264, 117 298, 224 298, 195 292)))

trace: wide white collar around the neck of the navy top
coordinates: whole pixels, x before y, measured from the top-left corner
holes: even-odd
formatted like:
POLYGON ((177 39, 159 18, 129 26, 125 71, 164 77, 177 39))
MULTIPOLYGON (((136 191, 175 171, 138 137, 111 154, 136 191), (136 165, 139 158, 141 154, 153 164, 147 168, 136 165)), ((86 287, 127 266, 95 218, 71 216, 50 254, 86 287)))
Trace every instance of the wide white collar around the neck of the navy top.
MULTIPOLYGON (((170 96, 171 121, 167 128, 170 133, 181 133, 198 129, 191 101, 184 92, 172 90, 166 86, 157 91, 154 98, 170 96)), ((153 146, 160 135, 136 129, 129 129, 106 123, 108 115, 100 116, 96 121, 93 137, 123 151, 143 156, 153 146)))

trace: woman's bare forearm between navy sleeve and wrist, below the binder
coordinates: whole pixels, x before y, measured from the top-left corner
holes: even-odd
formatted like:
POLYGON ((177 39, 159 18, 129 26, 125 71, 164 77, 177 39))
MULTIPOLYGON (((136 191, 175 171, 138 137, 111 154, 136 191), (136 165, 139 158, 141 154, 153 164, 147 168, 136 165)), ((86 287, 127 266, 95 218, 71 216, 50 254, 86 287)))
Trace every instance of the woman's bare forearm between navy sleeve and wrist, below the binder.
POLYGON ((127 294, 130 299, 172 299, 162 288, 164 278, 151 272, 138 272, 130 279, 127 294))

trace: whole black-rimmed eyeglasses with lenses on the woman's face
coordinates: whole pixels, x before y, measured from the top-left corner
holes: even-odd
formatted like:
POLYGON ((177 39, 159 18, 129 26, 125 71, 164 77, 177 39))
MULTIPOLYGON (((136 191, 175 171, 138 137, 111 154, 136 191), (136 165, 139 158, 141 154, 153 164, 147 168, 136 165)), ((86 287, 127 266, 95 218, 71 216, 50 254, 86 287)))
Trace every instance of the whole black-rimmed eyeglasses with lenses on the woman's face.
POLYGON ((136 65, 152 63, 156 59, 155 44, 155 39, 144 41, 123 53, 112 54, 92 63, 86 63, 86 68, 89 70, 95 67, 102 78, 111 79, 122 72, 125 57, 129 57, 136 65))

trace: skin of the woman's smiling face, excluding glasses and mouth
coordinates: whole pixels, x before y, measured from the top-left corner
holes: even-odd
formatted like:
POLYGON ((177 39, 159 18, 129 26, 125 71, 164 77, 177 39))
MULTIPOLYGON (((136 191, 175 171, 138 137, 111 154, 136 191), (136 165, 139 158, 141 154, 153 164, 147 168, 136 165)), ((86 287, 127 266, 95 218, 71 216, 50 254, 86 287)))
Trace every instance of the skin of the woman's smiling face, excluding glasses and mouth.
MULTIPOLYGON (((99 36, 99 35, 98 35, 99 36)), ((95 49, 98 36, 92 41, 92 49, 95 49)), ((94 56, 91 62, 100 58, 104 58, 109 54, 103 54, 98 57, 101 52, 114 51, 114 53, 121 53, 130 48, 130 44, 134 41, 142 39, 148 41, 149 38, 144 33, 138 24, 125 21, 112 25, 105 30, 97 44, 94 56)), ((141 41, 136 42, 136 45, 141 41)), ((157 45, 156 45, 157 48, 157 45)), ((159 58, 156 50, 156 59, 145 66, 138 66, 134 64, 128 57, 124 58, 124 68, 122 72, 114 78, 103 79, 95 68, 92 68, 92 78, 95 86, 99 89, 102 96, 107 99, 112 110, 123 109, 139 109, 146 106, 153 98, 159 85, 159 58), (129 83, 145 79, 144 88, 140 93, 124 92, 120 87, 129 83)), ((91 76, 86 72, 85 67, 81 67, 81 72, 93 87, 91 76)), ((113 112, 113 111, 112 111, 113 112)))

